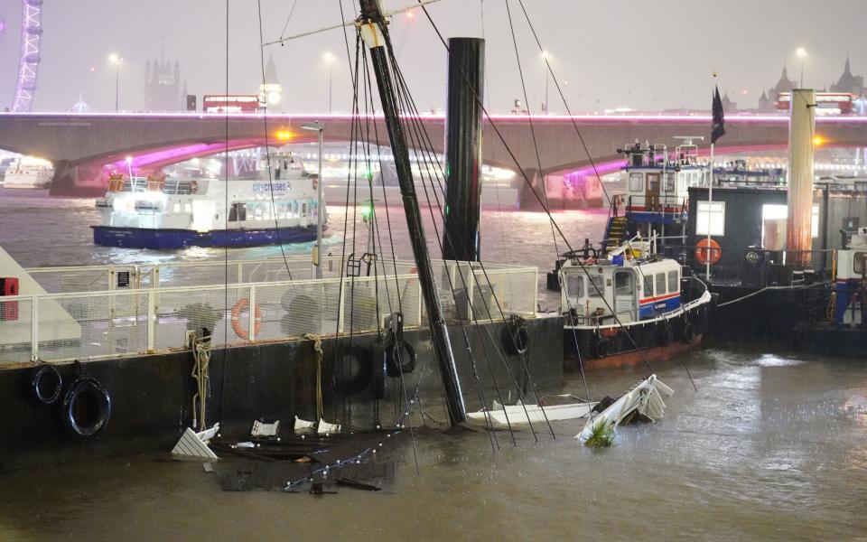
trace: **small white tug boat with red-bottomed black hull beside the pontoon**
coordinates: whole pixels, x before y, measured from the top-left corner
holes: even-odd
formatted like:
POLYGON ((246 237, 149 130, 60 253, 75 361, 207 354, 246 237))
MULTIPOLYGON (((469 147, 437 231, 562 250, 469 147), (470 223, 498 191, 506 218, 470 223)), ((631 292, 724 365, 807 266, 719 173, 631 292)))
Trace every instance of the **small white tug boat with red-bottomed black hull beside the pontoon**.
POLYGON ((566 351, 577 349, 585 367, 639 363, 637 349, 648 361, 665 360, 701 343, 711 294, 653 246, 637 237, 605 257, 588 247, 560 262, 566 351))

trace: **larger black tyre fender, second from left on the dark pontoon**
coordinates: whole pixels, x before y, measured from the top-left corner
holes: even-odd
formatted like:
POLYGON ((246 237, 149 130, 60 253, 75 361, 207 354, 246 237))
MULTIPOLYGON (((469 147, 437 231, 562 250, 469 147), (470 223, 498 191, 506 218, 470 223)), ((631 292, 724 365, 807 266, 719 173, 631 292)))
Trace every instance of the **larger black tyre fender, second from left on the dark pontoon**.
POLYGON ((95 378, 79 378, 67 389, 61 412, 63 425, 72 438, 96 438, 108 425, 111 397, 95 378))

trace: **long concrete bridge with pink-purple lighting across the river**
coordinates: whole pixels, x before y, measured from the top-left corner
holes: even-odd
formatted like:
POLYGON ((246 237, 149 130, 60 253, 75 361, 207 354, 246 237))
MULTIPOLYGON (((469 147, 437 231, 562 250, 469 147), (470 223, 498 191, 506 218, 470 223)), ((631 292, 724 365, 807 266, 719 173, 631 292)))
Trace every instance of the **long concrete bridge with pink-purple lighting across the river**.
MULTIPOLYGON (((430 146, 443 153, 445 119, 418 117, 430 146)), ((315 114, 201 113, 0 113, 0 149, 34 154, 55 164, 54 185, 101 190, 106 164, 123 164, 132 156, 137 168, 159 168, 192 157, 266 145, 312 142, 316 133, 302 129, 319 120, 328 142, 368 138, 387 145, 382 117, 315 114), (360 126, 359 126, 360 123, 360 126)), ((708 116, 560 116, 498 115, 484 123, 486 164, 530 176, 592 173, 591 163, 611 171, 620 164, 617 148, 631 141, 676 145, 678 135, 709 135, 708 116), (580 131, 575 130, 577 126, 580 131), (534 145, 533 134, 538 145, 534 145), (500 140, 508 144, 506 145, 500 140), (586 150, 585 150, 586 149, 586 150), (538 153, 538 159, 536 158, 538 153), (539 167, 541 165, 541 167, 539 167)), ((867 147, 867 117, 819 117, 816 134, 829 146, 867 147)), ((414 138, 411 145, 426 146, 414 138)), ((730 116, 718 153, 784 149, 787 116, 730 116)), ((124 164, 126 167, 126 164, 124 164)))

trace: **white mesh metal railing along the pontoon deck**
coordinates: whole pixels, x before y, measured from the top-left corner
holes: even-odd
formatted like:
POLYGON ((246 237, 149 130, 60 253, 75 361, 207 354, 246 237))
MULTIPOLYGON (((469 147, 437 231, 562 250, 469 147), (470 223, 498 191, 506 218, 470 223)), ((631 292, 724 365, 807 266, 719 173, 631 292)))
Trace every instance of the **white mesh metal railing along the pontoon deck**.
MULTIPOLYGON (((338 258, 327 271, 335 276, 322 279, 309 278, 308 258, 303 259, 306 268, 294 269, 294 262, 302 260, 290 260, 288 271, 282 258, 229 262, 243 278, 293 275, 293 280, 229 284, 225 262, 30 270, 49 293, 4 297, 0 302, 0 364, 183 350, 189 346, 189 333, 202 328, 212 333, 212 344, 221 347, 287 341, 305 333, 376 332, 389 314, 397 312, 403 313, 406 328, 427 323, 412 262, 379 262, 378 273, 371 265, 367 276, 362 261, 361 276, 341 278, 338 258)), ((536 315, 535 267, 439 260, 434 271, 450 321, 536 315)))

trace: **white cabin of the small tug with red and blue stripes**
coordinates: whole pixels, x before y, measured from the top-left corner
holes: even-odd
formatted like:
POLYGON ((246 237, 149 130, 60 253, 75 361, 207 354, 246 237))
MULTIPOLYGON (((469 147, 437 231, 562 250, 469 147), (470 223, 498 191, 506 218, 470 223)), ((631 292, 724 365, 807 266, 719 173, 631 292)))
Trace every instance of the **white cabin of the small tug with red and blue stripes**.
POLYGON ((650 320, 680 307, 680 264, 627 257, 586 260, 583 267, 578 260, 564 262, 560 268, 563 312, 571 313, 579 324, 596 326, 650 320))

